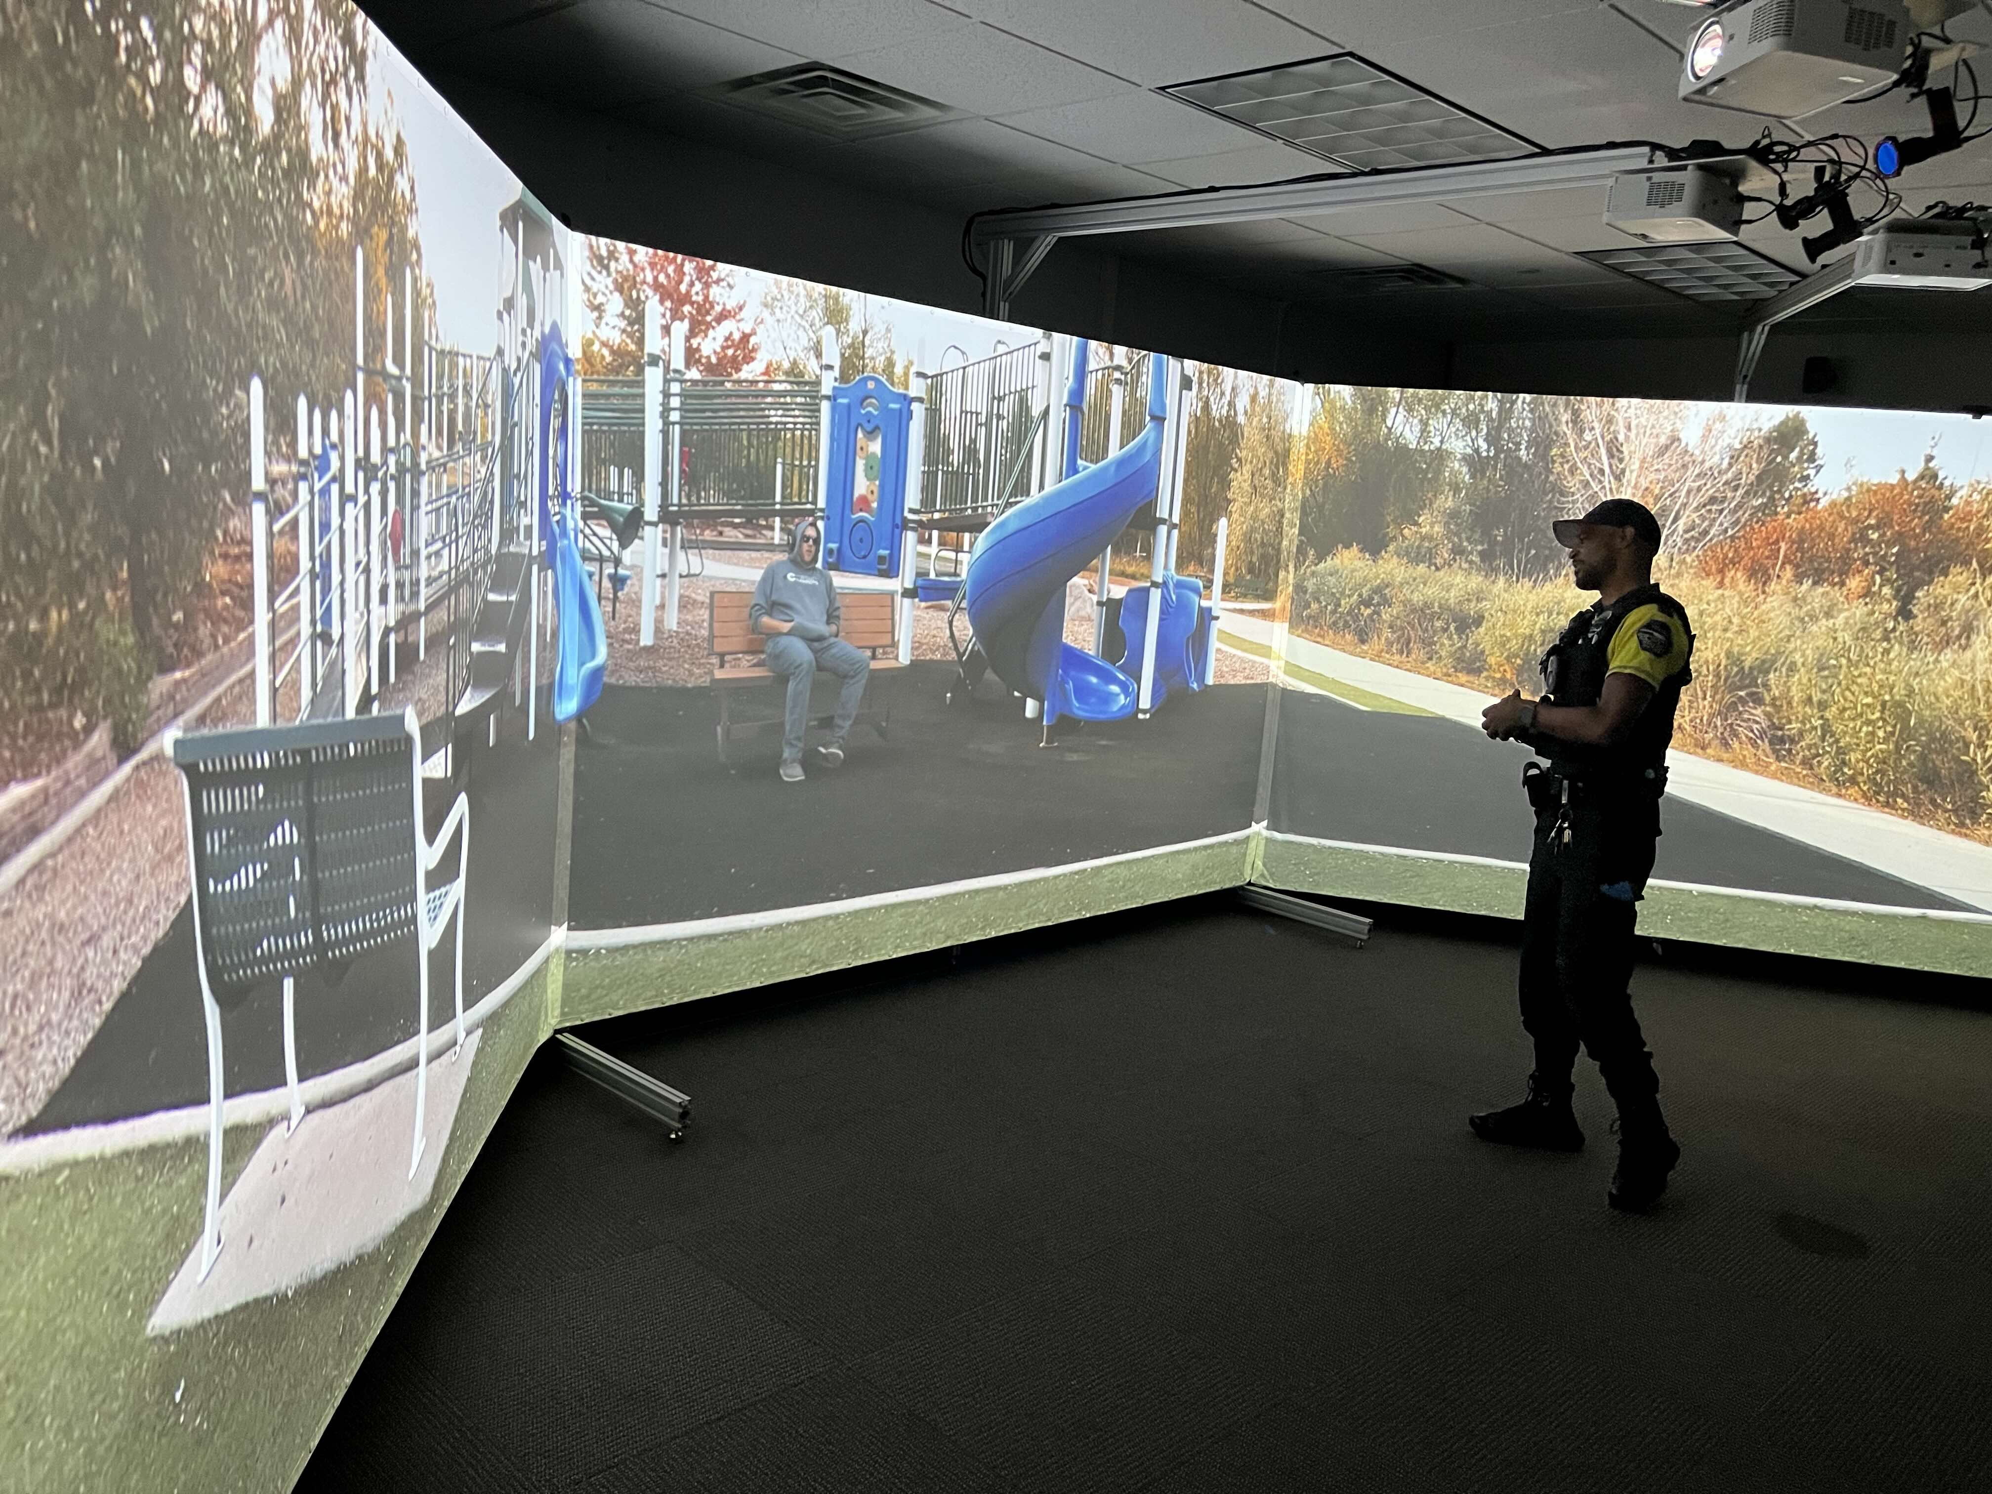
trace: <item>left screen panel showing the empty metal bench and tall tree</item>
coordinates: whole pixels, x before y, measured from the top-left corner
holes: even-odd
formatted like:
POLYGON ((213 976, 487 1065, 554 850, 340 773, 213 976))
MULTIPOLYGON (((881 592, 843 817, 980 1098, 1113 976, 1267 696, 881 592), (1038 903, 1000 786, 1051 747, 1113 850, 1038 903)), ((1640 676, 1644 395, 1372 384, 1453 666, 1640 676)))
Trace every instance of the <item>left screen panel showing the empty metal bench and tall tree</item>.
POLYGON ((548 1010, 566 231, 357 14, 175 14, 0 58, 8 1488, 287 1484, 548 1010))

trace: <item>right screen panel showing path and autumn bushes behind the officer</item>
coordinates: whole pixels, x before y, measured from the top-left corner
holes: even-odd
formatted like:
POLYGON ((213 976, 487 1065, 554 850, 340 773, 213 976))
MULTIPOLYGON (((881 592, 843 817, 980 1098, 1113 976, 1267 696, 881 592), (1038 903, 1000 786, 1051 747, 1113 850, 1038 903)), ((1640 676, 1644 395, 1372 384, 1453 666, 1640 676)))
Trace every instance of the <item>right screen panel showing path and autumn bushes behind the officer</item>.
POLYGON ((1697 633, 1641 930, 1992 970, 1970 420, 1317 388, 1283 440, 1285 625, 1225 620, 1283 661, 1271 880, 1518 912, 1530 753, 1480 715, 1594 600, 1550 522, 1635 498, 1697 633))

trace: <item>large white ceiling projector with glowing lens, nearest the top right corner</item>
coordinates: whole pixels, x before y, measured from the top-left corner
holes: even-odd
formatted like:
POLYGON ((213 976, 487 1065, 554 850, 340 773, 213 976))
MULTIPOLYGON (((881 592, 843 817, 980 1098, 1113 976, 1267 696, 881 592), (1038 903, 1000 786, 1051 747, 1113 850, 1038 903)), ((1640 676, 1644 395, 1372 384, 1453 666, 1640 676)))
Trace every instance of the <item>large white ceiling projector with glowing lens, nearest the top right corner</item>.
POLYGON ((1890 82, 1916 24, 1900 0, 1741 0, 1681 56, 1681 100, 1797 120, 1890 82))

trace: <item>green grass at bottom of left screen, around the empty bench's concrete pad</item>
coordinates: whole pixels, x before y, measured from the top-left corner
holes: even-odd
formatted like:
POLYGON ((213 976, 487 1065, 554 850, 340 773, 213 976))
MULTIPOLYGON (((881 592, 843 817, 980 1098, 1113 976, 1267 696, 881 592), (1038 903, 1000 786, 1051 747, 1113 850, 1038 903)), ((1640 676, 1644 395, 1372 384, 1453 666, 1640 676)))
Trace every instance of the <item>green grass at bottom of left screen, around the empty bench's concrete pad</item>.
MULTIPOLYGON (((295 1291, 147 1337, 201 1235, 205 1133, 0 1175, 0 1343, 24 1370, 0 1486, 291 1488, 540 1044, 548 964, 484 1022, 428 1199, 295 1291)), ((223 1191, 271 1125, 227 1129, 223 1191)))

